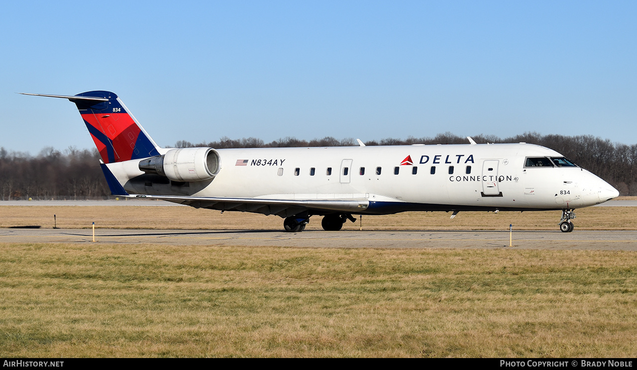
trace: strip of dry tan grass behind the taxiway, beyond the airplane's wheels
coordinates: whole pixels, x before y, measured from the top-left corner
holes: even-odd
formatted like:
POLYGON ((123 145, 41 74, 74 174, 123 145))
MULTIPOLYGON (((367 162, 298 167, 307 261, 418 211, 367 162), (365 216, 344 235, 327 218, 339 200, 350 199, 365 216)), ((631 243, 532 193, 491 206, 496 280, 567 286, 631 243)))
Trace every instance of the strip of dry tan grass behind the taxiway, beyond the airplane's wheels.
MULTIPOLYGON (((578 230, 637 230, 637 207, 592 207, 576 210, 578 230)), ((0 206, 0 227, 41 225, 65 229, 205 229, 276 230, 283 220, 254 213, 197 210, 185 206, 0 206)), ((545 212, 461 212, 453 220, 445 212, 405 212, 397 215, 364 216, 364 230, 555 230, 561 211, 545 212)), ((320 230, 321 217, 312 217, 307 229, 320 230)), ((347 222, 344 229, 359 229, 347 222)))

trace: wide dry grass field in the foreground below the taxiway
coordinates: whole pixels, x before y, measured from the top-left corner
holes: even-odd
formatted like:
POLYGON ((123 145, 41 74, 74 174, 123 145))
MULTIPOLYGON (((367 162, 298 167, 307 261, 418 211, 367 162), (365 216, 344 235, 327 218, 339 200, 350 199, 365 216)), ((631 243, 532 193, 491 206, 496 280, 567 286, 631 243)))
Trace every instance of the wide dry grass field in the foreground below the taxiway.
POLYGON ((634 252, 1 244, 5 357, 635 357, 634 252))

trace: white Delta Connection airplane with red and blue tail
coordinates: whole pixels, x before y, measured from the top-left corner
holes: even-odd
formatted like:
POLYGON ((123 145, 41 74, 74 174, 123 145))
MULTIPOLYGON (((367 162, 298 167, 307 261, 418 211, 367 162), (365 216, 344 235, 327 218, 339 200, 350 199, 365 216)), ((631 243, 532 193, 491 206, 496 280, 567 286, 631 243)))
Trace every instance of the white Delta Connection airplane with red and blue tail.
POLYGON ((161 148, 109 91, 75 96, 101 155, 113 196, 162 199, 194 208, 278 215, 288 232, 310 217, 338 231, 354 215, 404 211, 575 209, 619 192, 555 150, 527 143, 311 148, 161 148))

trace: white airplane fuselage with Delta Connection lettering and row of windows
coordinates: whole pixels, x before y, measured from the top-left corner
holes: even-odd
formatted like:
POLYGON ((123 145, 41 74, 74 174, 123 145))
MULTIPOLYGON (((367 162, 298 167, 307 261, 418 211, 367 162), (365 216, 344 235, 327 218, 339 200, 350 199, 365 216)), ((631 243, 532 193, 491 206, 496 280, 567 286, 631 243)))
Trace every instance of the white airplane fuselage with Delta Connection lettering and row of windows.
POLYGON ((136 194, 366 199, 369 206, 360 212, 364 214, 562 210, 592 206, 619 195, 581 167, 527 166, 529 157, 562 155, 525 143, 252 148, 217 153, 220 170, 215 178, 187 186, 134 180, 143 174, 136 168, 138 160, 108 166, 124 188, 136 194))

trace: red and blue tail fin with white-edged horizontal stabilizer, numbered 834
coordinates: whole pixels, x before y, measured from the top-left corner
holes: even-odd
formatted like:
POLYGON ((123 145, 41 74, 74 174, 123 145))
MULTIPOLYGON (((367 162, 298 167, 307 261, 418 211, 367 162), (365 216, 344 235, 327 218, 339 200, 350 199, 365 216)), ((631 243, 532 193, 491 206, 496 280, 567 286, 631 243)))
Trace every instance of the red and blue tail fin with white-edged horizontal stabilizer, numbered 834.
POLYGON ((159 146, 113 92, 88 91, 75 96, 21 94, 61 97, 75 103, 104 163, 159 155, 159 146))

